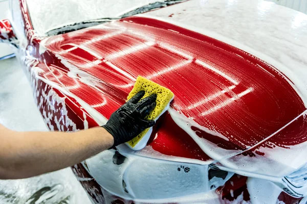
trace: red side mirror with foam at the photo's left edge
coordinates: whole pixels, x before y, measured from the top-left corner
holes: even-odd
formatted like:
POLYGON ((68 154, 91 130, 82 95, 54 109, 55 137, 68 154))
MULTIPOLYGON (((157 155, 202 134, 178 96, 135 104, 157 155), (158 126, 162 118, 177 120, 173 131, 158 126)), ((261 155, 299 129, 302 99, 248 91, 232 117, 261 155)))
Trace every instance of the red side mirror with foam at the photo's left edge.
POLYGON ((8 19, 0 20, 0 42, 14 44, 17 38, 8 19))

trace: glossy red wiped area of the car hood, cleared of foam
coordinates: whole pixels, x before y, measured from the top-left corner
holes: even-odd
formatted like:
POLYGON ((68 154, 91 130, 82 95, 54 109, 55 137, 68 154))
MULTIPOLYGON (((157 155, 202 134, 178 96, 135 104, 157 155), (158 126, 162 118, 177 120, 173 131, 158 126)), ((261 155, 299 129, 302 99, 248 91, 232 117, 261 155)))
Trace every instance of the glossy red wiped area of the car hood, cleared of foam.
MULTIPOLYGON (((47 60, 50 70, 61 76, 50 80, 73 86, 71 93, 106 118, 124 103, 135 78, 142 75, 174 92, 172 108, 225 136, 229 141, 196 131, 226 149, 253 146, 305 110, 299 95, 274 67, 226 43, 155 19, 129 17, 54 36, 46 47, 47 53, 68 62, 70 74, 75 75, 68 77, 67 68, 47 60)), ((166 143, 169 147, 178 142, 159 138, 165 128, 152 141, 164 154, 166 143)), ((276 142, 275 137, 271 140, 276 142)), ((296 137, 298 143, 305 140, 296 137)), ((292 139, 284 137, 284 144, 293 145, 292 139)))

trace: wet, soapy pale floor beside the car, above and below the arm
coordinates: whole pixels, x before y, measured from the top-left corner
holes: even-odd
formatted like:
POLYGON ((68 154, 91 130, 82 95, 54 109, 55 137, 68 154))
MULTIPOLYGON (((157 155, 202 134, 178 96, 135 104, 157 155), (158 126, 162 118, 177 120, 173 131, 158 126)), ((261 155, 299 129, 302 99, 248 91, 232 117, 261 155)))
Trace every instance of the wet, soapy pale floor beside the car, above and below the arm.
MULTIPOLYGON (((15 58, 0 61, 0 123, 17 131, 48 131, 24 71, 15 58), (35 125, 33 125, 35 124, 35 125)), ((0 203, 89 204, 70 168, 24 180, 0 180, 0 203)))

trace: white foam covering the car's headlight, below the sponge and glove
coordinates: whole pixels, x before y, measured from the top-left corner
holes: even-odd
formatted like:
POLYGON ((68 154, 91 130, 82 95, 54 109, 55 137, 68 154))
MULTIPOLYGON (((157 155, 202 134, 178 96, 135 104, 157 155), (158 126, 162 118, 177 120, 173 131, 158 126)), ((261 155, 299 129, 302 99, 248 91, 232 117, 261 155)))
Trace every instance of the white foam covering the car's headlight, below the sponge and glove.
POLYGON ((135 203, 223 203, 220 195, 210 187, 213 184, 223 186, 233 175, 228 173, 225 180, 209 181, 208 165, 135 155, 117 164, 114 154, 115 150, 107 150, 86 160, 91 175, 102 186, 107 203, 114 201, 114 195, 135 203))

